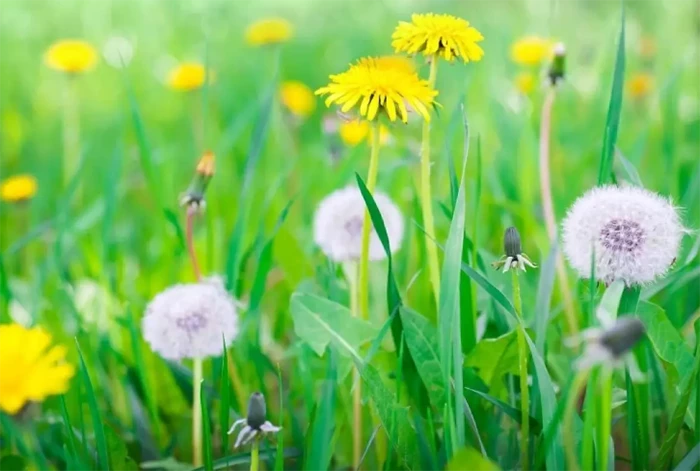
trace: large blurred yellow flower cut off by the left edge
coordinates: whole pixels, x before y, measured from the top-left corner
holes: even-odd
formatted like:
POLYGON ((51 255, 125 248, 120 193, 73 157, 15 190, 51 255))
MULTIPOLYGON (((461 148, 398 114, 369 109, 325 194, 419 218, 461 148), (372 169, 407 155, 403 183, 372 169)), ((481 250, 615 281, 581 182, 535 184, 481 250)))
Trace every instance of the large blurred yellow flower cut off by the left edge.
POLYGON ((0 325, 0 410, 16 414, 27 402, 66 392, 75 370, 65 356, 41 328, 0 325))

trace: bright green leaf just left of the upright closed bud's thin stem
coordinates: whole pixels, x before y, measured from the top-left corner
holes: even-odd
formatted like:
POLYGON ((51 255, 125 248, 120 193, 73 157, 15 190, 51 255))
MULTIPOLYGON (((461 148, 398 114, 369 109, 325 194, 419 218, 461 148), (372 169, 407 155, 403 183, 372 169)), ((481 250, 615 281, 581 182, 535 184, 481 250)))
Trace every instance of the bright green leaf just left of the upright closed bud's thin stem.
POLYGON ((518 374, 516 333, 516 330, 511 330, 500 337, 481 340, 465 359, 465 366, 477 370, 492 396, 499 397, 504 391, 503 376, 518 374))

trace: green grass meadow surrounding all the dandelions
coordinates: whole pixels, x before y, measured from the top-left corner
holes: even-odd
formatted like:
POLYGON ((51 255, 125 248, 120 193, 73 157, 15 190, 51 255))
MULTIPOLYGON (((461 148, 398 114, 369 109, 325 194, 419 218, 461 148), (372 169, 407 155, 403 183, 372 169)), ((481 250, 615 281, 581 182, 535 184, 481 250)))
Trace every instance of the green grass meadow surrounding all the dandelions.
MULTIPOLYGON (((530 356, 529 469, 566 469, 562 424, 578 352, 566 345, 555 271, 561 243, 550 246, 538 188, 545 91, 525 98, 513 86, 522 67, 509 48, 527 34, 567 45, 551 136, 557 221, 591 187, 643 183, 681 206, 691 229, 668 275, 637 292, 615 298, 619 286, 569 269, 565 288, 582 328, 597 324, 601 304, 647 326, 634 356, 648 381, 617 370, 606 382, 596 370, 576 401, 582 469, 700 463, 694 2, 627 2, 624 15, 616 2, 583 1, 270 0, 241 9, 219 0, 6 0, 2 8, 0 179, 31 173, 39 190, 26 204, 0 203, 0 319, 42 326, 66 347, 76 375, 65 394, 16 416, 0 412, 0 469, 192 469, 190 363, 152 352, 141 318, 158 292, 194 281, 178 198, 206 149, 216 173, 195 246, 203 274, 222 275, 244 307, 228 355, 204 362, 199 469, 250 466, 250 447, 233 449, 226 431, 246 416, 254 391, 265 394, 268 420, 283 426, 261 443, 264 469, 347 469, 354 368, 363 382, 363 469, 520 469, 520 322, 530 356), (429 9, 462 16, 485 36, 482 61, 439 67, 441 108, 431 122, 439 307, 418 197, 420 122, 389 125, 380 152, 377 188, 405 216, 397 248, 359 177, 368 143, 346 146, 322 132, 334 113, 323 100, 295 121, 278 97, 281 81, 316 89, 356 58, 391 53, 397 22, 429 9), (265 16, 289 19, 292 40, 246 45, 246 25, 265 16), (81 158, 64 184, 64 77, 42 54, 60 38, 101 47, 115 34, 134 40, 134 59, 121 71, 101 61, 76 77, 81 158), (642 54, 642 38, 655 42, 652 57, 642 54), (160 71, 168 56, 206 63, 215 80, 192 93, 168 89, 160 71), (640 72, 653 86, 634 98, 627 87, 640 72), (313 241, 318 203, 345 185, 361 190, 388 255, 370 266, 367 320, 351 316, 343 270, 313 241), (520 276, 522 320, 509 274, 490 266, 509 226, 539 266, 520 276)), ((428 66, 415 62, 427 77, 428 66)), ((0 395, 2 384, 0 371, 0 395)))

